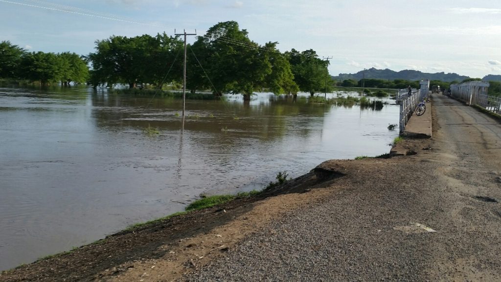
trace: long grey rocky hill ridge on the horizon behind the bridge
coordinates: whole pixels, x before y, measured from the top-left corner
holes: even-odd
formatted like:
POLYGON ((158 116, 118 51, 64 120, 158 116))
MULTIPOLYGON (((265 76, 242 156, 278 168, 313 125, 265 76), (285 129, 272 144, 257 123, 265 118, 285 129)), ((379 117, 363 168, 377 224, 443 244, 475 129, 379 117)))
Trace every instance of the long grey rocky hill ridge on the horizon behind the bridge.
MULTIPOLYGON (((364 71, 359 71, 357 73, 340 73, 338 76, 333 76, 333 79, 338 81, 343 81, 345 79, 354 79, 360 80, 364 77, 364 71)), ((402 70, 402 71, 392 71, 390 69, 378 70, 376 68, 370 68, 365 70, 365 78, 377 78, 377 79, 405 79, 405 80, 421 80, 421 79, 429 79, 429 80, 441 80, 441 81, 462 81, 468 76, 458 75, 457 73, 424 73, 416 70, 402 70)))

